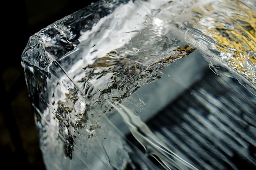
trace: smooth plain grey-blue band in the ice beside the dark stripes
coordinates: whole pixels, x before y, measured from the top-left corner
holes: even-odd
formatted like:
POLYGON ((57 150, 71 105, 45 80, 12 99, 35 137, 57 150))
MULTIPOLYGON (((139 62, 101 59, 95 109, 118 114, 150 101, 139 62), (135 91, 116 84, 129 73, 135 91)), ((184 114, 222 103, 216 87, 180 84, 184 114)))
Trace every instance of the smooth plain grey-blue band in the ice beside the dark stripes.
MULTIPOLYGON (((130 110, 136 107, 132 103, 133 98, 145 103, 144 109, 138 113, 141 121, 146 122, 155 116, 168 103, 174 101, 182 92, 191 87, 204 76, 205 71, 209 70, 209 63, 198 50, 162 70, 163 77, 153 83, 141 86, 137 89, 122 105, 126 105, 130 110)), ((125 135, 129 129, 124 125, 118 111, 108 115, 108 119, 125 135)))

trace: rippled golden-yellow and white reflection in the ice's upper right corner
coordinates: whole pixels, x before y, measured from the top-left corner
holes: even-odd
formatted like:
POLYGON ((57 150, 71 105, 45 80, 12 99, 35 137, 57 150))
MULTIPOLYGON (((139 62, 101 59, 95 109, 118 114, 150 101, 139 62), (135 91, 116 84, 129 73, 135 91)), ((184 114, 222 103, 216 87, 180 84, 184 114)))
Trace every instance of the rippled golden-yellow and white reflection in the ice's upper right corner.
POLYGON ((195 8, 191 25, 213 38, 220 58, 256 84, 256 11, 227 1, 195 8))

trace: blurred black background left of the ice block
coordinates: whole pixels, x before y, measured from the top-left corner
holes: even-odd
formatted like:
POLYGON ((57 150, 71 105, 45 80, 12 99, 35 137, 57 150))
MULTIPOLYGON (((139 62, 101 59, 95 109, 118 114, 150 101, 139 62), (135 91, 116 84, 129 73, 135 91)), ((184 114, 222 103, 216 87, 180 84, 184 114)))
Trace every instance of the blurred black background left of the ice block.
POLYGON ((45 170, 20 57, 30 36, 91 2, 95 0, 9 0, 1 4, 1 167, 45 170))

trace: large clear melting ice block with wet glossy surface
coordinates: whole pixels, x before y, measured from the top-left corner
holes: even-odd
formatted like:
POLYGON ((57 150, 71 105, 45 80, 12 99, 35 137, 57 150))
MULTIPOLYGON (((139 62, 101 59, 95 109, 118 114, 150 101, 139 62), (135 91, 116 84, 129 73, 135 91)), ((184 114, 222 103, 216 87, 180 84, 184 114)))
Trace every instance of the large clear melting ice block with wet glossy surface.
POLYGON ((21 63, 46 168, 256 168, 255 9, 99 1, 31 36, 21 63))

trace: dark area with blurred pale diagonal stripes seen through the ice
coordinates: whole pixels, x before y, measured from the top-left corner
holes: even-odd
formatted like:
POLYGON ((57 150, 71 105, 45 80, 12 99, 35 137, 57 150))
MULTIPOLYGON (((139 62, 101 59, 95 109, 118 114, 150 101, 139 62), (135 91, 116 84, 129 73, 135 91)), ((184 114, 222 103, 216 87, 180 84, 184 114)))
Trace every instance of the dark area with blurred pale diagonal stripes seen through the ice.
POLYGON ((148 121, 148 126, 200 170, 253 170, 255 103, 256 96, 235 79, 209 73, 148 121))

